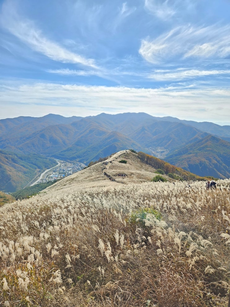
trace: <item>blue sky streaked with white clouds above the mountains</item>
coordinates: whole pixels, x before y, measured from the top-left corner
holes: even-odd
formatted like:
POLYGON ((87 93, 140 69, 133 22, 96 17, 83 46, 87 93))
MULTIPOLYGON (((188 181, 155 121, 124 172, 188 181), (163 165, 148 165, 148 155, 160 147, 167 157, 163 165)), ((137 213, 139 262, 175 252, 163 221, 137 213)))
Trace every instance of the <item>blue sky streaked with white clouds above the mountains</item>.
POLYGON ((0 119, 230 125, 230 0, 0 0, 0 119))

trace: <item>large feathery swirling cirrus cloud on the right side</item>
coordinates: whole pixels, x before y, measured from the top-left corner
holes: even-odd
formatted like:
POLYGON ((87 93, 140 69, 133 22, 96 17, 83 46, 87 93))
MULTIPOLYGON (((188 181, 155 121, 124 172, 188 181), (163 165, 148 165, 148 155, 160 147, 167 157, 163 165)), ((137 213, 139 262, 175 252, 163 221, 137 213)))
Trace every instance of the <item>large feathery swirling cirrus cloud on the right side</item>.
POLYGON ((141 42, 139 53, 154 64, 168 59, 225 58, 230 55, 230 24, 207 27, 179 26, 154 40, 149 37, 141 42), (221 33, 221 37, 220 37, 221 33))

